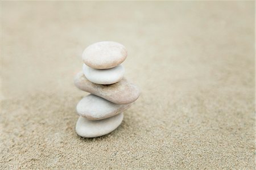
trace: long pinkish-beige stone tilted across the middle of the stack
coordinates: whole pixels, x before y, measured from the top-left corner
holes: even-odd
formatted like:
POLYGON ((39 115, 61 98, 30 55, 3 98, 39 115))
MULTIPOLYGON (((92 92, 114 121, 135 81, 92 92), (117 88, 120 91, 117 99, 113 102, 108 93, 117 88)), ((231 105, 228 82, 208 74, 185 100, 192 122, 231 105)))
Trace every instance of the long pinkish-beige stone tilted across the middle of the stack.
POLYGON ((111 85, 101 85, 90 82, 82 72, 74 78, 74 83, 80 90, 100 96, 115 104, 133 103, 139 97, 139 88, 122 78, 120 82, 111 85))

